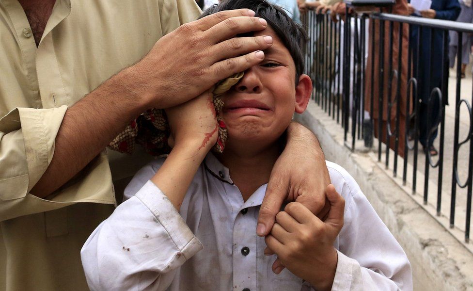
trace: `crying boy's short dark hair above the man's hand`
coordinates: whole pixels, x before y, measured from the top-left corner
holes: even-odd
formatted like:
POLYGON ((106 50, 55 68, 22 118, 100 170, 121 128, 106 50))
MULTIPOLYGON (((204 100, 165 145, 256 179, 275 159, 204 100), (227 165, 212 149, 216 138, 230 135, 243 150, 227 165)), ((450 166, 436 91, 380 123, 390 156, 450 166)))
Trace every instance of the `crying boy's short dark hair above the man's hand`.
POLYGON ((264 18, 276 32, 294 60, 296 84, 299 83, 299 76, 304 71, 302 48, 305 47, 307 36, 302 26, 287 16, 279 6, 268 3, 266 0, 224 0, 220 4, 209 7, 199 18, 224 10, 241 8, 253 10, 256 13, 255 16, 264 18))

